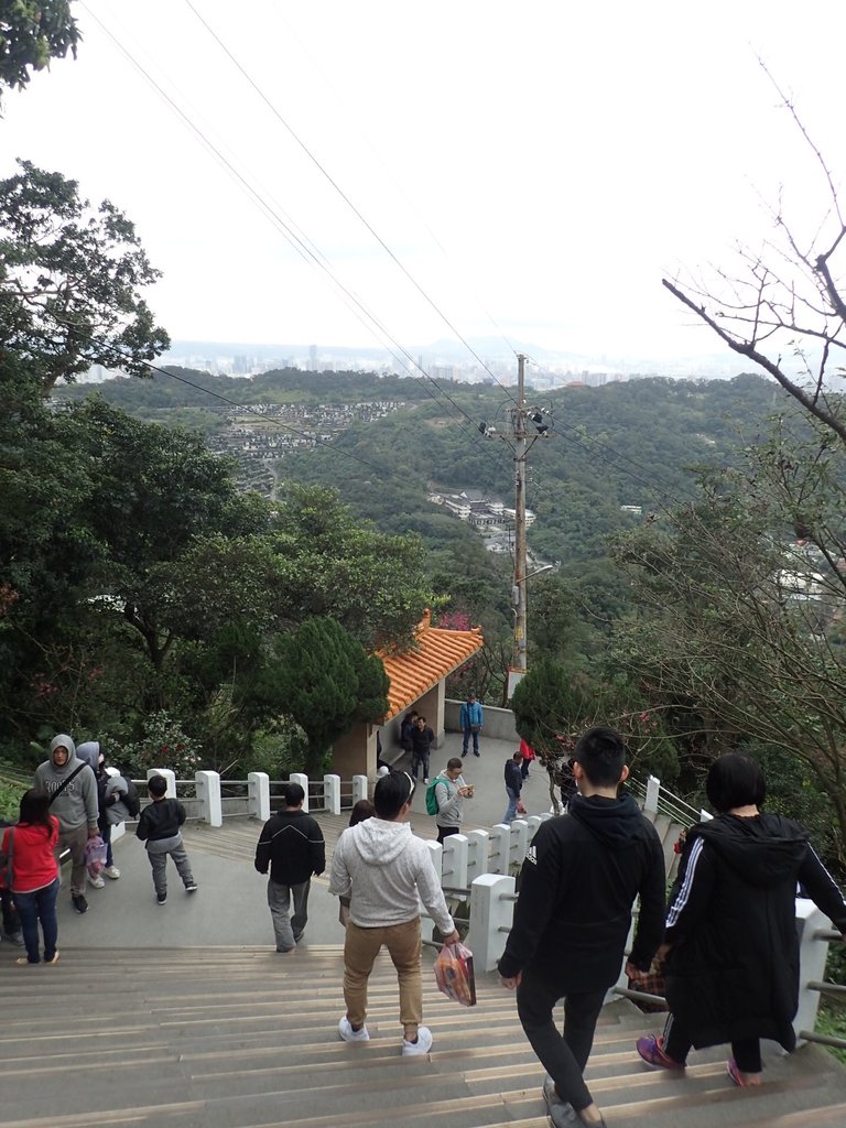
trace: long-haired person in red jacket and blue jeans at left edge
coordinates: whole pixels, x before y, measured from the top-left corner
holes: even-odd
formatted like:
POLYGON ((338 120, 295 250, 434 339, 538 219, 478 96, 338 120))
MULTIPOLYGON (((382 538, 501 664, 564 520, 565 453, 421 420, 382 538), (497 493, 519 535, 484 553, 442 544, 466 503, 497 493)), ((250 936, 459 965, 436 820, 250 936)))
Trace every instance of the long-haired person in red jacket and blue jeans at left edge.
POLYGON ((11 852, 11 892, 20 916, 26 955, 20 964, 39 963, 38 922, 44 933, 44 962, 56 963, 59 923, 55 902, 59 896, 59 865, 55 846, 59 819, 50 813, 50 796, 30 788, 20 799, 20 821, 3 834, 2 849, 11 852))

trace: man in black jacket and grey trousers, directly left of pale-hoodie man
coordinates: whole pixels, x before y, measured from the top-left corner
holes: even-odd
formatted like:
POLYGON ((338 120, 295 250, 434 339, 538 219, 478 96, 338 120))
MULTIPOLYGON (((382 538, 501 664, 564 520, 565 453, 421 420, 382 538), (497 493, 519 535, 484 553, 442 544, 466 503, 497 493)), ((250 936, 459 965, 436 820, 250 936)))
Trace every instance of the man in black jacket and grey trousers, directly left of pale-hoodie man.
POLYGON ((298 783, 285 786, 285 808, 264 825, 256 846, 256 870, 271 875, 267 905, 276 936, 277 952, 292 952, 308 920, 308 893, 311 874, 326 869, 323 831, 302 804, 306 792, 298 783), (293 897, 293 916, 291 898, 293 897))

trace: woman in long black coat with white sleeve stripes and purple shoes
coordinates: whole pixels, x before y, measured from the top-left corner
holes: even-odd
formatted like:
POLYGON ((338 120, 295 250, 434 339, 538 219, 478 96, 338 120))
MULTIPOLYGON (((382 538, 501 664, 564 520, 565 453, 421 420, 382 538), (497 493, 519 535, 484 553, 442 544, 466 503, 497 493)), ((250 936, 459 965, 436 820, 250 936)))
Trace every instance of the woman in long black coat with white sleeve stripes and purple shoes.
POLYGON ((687 834, 670 895, 664 979, 670 1016, 662 1036, 637 1040, 649 1065, 684 1069, 690 1047, 731 1042, 738 1085, 760 1084, 760 1038, 795 1046, 799 1005, 796 884, 846 941, 846 902, 792 819, 759 811, 760 767, 730 752, 711 767, 717 818, 687 834))

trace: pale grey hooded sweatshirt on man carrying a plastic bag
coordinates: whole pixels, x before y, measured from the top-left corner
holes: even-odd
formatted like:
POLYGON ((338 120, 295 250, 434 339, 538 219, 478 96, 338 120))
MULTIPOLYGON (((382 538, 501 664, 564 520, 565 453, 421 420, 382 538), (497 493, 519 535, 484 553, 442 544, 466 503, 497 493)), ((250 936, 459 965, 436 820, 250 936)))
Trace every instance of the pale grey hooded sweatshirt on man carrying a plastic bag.
POLYGON ((360 928, 406 924, 420 901, 443 935, 455 932, 429 846, 407 822, 367 819, 347 827, 335 846, 329 892, 352 897, 350 919, 360 928))

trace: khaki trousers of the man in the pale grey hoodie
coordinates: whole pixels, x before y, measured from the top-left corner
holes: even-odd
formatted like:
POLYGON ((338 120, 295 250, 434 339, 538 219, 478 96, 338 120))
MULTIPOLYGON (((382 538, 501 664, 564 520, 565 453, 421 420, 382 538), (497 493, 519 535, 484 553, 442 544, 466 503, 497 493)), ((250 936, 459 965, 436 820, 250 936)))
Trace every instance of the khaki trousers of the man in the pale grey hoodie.
POLYGON ((420 970, 420 917, 405 924, 361 928, 352 920, 344 941, 344 999, 350 1024, 362 1026, 367 1017, 368 979, 382 945, 397 969, 399 1021, 405 1037, 414 1041, 423 1021, 423 978, 420 970))

